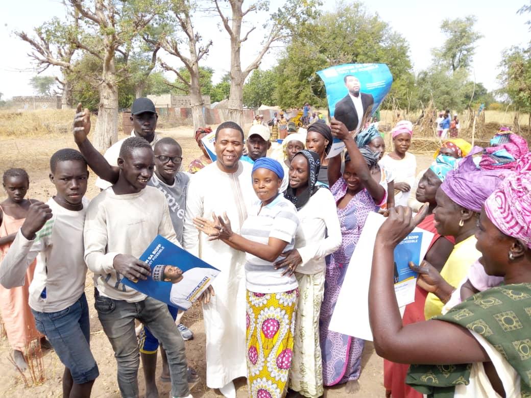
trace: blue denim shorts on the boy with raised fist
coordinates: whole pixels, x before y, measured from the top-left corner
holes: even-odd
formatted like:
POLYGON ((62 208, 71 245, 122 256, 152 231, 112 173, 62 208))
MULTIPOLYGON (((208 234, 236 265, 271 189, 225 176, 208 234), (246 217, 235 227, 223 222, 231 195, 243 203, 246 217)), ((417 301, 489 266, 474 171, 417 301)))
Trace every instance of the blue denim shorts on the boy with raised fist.
POLYGON ((70 370, 75 384, 95 380, 98 365, 90 352, 89 306, 85 293, 70 307, 55 313, 31 310, 37 330, 46 335, 55 353, 70 370))

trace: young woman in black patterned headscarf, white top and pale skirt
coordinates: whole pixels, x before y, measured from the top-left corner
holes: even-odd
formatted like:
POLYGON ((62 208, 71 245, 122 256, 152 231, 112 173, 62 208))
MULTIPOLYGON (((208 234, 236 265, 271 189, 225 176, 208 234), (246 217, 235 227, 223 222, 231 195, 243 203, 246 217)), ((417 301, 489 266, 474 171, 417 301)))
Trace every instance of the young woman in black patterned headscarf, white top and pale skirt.
POLYGON ((299 227, 295 248, 282 253, 275 265, 295 273, 299 301, 295 321, 295 345, 289 387, 307 397, 323 395, 319 313, 324 293, 325 257, 341 245, 336 202, 326 187, 316 185, 321 162, 311 151, 298 152, 289 168, 289 187, 284 196, 297 207, 299 227))

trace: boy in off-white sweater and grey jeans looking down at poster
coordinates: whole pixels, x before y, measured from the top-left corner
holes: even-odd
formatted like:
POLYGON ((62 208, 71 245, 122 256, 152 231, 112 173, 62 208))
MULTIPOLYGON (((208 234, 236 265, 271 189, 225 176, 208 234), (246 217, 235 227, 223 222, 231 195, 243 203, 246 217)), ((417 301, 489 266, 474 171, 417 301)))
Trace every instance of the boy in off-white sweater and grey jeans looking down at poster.
POLYGON ((168 358, 173 397, 191 397, 184 341, 162 302, 121 283, 147 279, 150 267, 138 257, 157 235, 179 245, 165 195, 148 181, 155 155, 141 137, 126 139, 118 157, 116 184, 93 199, 84 228, 85 261, 94 273, 95 307, 115 352, 123 397, 137 397, 139 347, 135 319, 162 343, 168 358))

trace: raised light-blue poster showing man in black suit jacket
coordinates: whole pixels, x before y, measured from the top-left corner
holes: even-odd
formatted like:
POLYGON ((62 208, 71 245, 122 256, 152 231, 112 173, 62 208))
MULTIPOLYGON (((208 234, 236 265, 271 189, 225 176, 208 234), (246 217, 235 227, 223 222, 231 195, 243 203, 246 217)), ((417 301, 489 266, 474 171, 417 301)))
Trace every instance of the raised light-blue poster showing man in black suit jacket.
MULTIPOLYGON (((359 132, 391 90, 393 76, 386 64, 344 64, 317 72, 327 90, 330 117, 343 122, 348 131, 359 132)), ((335 139, 331 158, 344 148, 335 139)))

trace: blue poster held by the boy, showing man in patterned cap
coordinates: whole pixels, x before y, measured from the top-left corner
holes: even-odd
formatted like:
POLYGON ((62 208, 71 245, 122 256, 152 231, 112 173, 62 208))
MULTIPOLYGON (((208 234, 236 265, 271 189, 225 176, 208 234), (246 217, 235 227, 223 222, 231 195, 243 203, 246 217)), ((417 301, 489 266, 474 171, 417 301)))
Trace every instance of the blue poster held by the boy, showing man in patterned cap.
POLYGON ((140 259, 151 267, 147 280, 122 283, 168 305, 188 309, 219 270, 158 235, 140 259))

